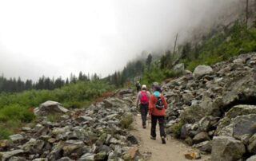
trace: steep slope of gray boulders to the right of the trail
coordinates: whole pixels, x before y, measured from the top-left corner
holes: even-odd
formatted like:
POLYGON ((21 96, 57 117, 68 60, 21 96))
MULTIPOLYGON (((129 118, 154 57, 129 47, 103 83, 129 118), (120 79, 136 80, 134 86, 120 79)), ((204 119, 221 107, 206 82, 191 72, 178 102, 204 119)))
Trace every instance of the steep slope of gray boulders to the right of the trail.
POLYGON ((255 160, 256 53, 199 65, 162 88, 169 134, 211 152, 214 161, 255 160))

